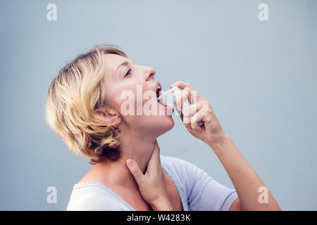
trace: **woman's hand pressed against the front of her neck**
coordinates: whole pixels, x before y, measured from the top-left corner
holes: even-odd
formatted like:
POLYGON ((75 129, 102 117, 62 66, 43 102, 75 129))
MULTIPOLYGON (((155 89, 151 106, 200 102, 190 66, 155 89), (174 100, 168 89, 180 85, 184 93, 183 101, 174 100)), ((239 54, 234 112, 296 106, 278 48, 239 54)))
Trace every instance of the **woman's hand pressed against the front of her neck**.
POLYGON ((142 173, 135 160, 126 161, 131 174, 137 181, 142 198, 151 205, 154 211, 172 211, 173 206, 168 198, 166 183, 160 160, 160 148, 155 140, 154 150, 147 164, 147 172, 142 173))

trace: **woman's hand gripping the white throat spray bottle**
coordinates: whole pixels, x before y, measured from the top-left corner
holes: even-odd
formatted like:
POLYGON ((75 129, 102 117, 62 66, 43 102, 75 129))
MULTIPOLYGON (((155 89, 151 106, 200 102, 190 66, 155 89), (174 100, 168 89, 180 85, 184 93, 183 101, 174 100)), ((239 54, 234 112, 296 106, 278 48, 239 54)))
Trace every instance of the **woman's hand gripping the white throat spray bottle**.
POLYGON ((207 144, 220 142, 226 134, 213 113, 209 101, 199 95, 197 91, 194 91, 189 83, 178 81, 171 84, 170 88, 173 88, 173 86, 182 89, 180 95, 175 96, 175 107, 189 133, 207 144), (182 102, 186 99, 188 99, 190 106, 185 108, 183 114, 181 113, 182 102), (201 127, 198 125, 200 121, 204 122, 201 127))

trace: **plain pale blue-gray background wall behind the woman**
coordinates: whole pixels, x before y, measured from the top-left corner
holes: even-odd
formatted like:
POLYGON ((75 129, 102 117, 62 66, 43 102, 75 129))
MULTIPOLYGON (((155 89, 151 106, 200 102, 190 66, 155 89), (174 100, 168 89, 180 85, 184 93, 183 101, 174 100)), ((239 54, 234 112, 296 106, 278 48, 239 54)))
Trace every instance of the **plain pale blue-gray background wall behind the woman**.
MULTIPOLYGON (((206 97, 282 210, 317 210, 317 1, 1 1, 0 210, 65 210, 91 165, 44 120, 51 79, 94 44, 116 44, 156 68, 163 88, 206 97), (57 21, 46 6, 57 5, 57 21), (266 22, 258 6, 268 5, 266 22), (46 203, 56 186, 58 202, 46 203)), ((179 117, 163 155, 230 188, 213 151, 179 117)))

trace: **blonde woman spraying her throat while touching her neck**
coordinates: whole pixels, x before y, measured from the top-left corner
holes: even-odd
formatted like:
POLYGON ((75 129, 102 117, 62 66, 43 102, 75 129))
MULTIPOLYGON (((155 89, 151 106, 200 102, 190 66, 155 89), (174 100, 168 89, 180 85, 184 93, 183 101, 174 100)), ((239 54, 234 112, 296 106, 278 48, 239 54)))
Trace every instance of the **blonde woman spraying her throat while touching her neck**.
POLYGON ((51 82, 47 122, 70 151, 94 165, 74 185, 67 210, 280 210, 269 191, 267 203, 260 203, 265 184, 223 131, 211 104, 199 94, 194 98, 185 82, 170 85, 182 89, 175 101, 179 113, 182 101, 192 104, 180 113, 182 121, 216 153, 235 189, 185 160, 159 155, 156 138, 174 122, 173 109, 156 101, 161 84, 155 74, 118 46, 105 45, 75 58, 51 82))

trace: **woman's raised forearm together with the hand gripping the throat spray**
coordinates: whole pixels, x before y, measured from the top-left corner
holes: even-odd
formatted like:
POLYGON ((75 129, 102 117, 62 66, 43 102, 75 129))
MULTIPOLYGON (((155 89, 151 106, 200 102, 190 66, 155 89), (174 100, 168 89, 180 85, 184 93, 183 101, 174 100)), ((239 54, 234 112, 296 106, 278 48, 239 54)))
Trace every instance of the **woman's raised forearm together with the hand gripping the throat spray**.
POLYGON ((175 106, 180 113, 185 127, 197 139, 207 143, 228 172, 237 191, 238 199, 232 204, 230 210, 280 210, 278 203, 266 188, 263 181, 249 165, 237 149, 230 136, 223 131, 220 122, 213 113, 211 104, 203 96, 197 94, 189 83, 175 82, 170 85, 182 89, 179 96, 175 96, 175 106), (182 110, 182 102, 188 100, 191 105, 182 110), (198 122, 204 122, 199 127, 198 122), (260 188, 260 189, 259 189, 260 188), (267 198, 263 200, 262 194, 267 198), (261 202, 261 203, 260 203, 261 202))

